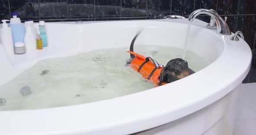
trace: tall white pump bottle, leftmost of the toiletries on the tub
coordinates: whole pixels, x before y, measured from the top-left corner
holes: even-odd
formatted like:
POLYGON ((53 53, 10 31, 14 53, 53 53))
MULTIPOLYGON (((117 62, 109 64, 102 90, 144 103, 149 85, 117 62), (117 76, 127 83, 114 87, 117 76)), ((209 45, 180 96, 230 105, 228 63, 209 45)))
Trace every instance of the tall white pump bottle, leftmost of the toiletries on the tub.
POLYGON ((3 48, 7 52, 7 55, 10 57, 14 55, 14 48, 13 48, 13 37, 11 28, 8 27, 7 21, 9 20, 2 20, 2 28, 0 28, 0 41, 3 45, 3 48))

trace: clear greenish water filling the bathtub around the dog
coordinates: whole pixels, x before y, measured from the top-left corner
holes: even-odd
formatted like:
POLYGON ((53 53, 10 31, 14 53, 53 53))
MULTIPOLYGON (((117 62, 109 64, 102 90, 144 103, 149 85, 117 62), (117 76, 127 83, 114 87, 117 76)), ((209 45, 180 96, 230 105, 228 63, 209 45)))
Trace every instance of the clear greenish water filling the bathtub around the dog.
MULTIPOLYGON (((154 88, 126 65, 127 48, 99 49, 66 58, 39 61, 0 87, 0 110, 42 109, 107 100, 154 88)), ((183 49, 136 45, 135 52, 165 65, 181 58, 183 49)), ((187 51, 189 67, 199 71, 207 63, 187 51)))

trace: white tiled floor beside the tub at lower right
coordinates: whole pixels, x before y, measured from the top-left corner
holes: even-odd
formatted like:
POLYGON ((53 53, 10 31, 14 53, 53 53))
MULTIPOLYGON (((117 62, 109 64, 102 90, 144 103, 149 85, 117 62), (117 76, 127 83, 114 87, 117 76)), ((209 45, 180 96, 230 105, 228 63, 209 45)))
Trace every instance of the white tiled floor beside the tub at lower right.
POLYGON ((256 83, 242 84, 234 135, 256 135, 256 83))

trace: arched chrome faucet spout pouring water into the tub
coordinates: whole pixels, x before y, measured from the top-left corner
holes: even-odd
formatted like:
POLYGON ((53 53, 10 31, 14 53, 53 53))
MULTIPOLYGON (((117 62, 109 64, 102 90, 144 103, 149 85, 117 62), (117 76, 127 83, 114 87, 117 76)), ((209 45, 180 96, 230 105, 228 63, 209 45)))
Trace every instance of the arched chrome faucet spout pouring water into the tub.
POLYGON ((215 23, 217 24, 217 33, 218 34, 231 35, 230 28, 226 24, 225 20, 222 19, 217 13, 215 13, 211 10, 207 10, 207 9, 195 10, 193 13, 190 14, 190 16, 188 17, 188 20, 192 22, 200 14, 207 14, 214 18, 215 23))

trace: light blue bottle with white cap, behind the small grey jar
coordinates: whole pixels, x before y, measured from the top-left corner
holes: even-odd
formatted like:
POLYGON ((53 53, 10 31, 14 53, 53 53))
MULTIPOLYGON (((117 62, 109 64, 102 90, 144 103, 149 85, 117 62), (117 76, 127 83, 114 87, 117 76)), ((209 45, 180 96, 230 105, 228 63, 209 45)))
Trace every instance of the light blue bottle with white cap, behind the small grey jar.
POLYGON ((12 13, 13 18, 10 19, 14 44, 15 42, 24 42, 25 37, 25 27, 21 23, 20 18, 17 18, 18 14, 20 13, 12 13))

